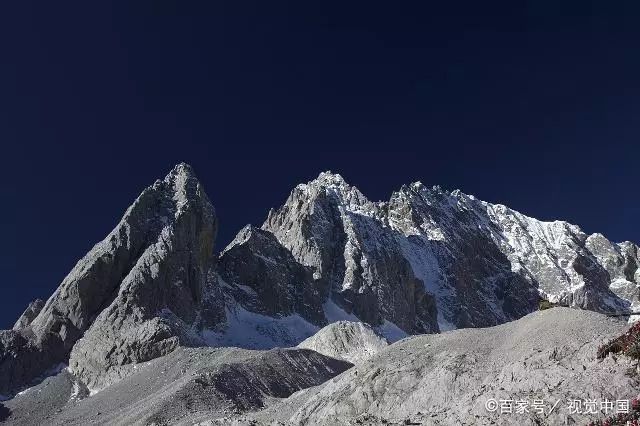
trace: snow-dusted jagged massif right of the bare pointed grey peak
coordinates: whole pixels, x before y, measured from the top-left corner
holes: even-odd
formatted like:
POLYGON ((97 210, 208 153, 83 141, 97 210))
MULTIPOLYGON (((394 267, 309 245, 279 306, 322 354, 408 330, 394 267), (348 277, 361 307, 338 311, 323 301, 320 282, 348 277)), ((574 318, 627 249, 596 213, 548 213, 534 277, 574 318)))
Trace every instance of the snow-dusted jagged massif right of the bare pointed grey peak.
POLYGON ((373 203, 322 173, 262 228, 313 270, 322 298, 407 333, 500 324, 541 298, 602 312, 638 303, 636 245, 421 183, 373 203))

